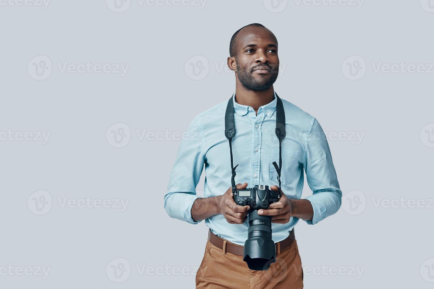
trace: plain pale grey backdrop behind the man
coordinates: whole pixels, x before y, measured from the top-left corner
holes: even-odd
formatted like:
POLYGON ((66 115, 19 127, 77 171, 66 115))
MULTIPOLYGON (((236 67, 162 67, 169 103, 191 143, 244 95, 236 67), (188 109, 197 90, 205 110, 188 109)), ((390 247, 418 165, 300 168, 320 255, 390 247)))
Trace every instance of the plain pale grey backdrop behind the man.
MULTIPOLYGON (((404 62, 429 70, 434 63, 429 0, 366 0, 359 7, 283 0, 274 3, 276 9, 266 0, 208 0, 203 7, 192 0, 178 6, 131 0, 122 13, 110 10, 113 1, 52 0, 43 9, 8 0, 0 6, 0 132, 31 132, 33 139, 50 133, 45 144, 11 136, 0 141, 0 269, 50 268, 46 279, 35 271, 31 276, 1 271, 0 287, 194 287, 195 270, 185 276, 174 270, 197 269, 207 227, 171 219, 163 208, 180 141, 140 140, 136 130, 182 133, 194 116, 227 100, 234 76, 219 68, 226 67, 230 37, 258 22, 279 41, 276 92, 316 117, 327 133, 342 136, 329 138, 344 194, 341 209, 314 226, 303 221, 296 226, 305 288, 432 288, 434 74, 374 69, 380 62, 404 62), (33 63, 41 64, 42 58, 32 60, 39 55, 52 62, 44 80, 34 79, 32 70, 33 63), (365 61, 358 62, 358 80, 349 79, 354 59, 365 61), (129 67, 121 77, 62 72, 58 62, 129 67), (201 80, 192 79, 190 63, 205 68, 201 80), (118 123, 130 129, 124 130, 130 141, 122 147, 114 147, 110 137, 112 125, 115 132, 122 128, 118 123), (355 132, 364 133, 360 142, 352 140, 355 132), (33 205, 39 190, 52 200, 43 215, 33 205), (129 203, 121 212, 62 208, 58 201, 86 197, 129 203), (401 197, 426 205, 375 205, 379 198, 401 197), (131 266, 122 283, 106 273, 119 257, 131 266), (171 269, 140 274, 136 265, 171 269), (320 267, 347 273, 308 273, 320 267), (351 274, 352 267, 362 275, 351 274)), ((198 194, 203 185, 204 175, 198 194)), ((310 194, 306 183, 303 197, 310 194)))

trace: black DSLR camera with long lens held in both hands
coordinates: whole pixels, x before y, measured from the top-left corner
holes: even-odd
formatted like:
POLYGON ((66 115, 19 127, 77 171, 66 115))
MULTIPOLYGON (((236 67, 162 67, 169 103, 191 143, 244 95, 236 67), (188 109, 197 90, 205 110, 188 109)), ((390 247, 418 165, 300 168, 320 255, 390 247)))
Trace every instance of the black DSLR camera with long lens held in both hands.
POLYGON ((259 209, 266 209, 279 201, 279 191, 267 185, 255 185, 233 192, 233 201, 240 206, 250 206, 249 229, 244 243, 243 260, 250 270, 268 270, 276 262, 276 245, 271 238, 271 216, 261 216, 259 209))

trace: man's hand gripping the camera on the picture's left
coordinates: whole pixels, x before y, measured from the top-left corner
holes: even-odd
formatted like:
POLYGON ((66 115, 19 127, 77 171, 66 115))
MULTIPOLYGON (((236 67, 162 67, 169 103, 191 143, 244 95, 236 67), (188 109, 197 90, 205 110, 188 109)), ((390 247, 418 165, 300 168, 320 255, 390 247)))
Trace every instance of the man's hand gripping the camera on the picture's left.
MULTIPOLYGON (((235 186, 237 190, 247 188, 247 183, 235 186)), ((232 187, 220 196, 219 214, 222 214, 229 224, 243 224, 247 218, 250 206, 240 206, 233 201, 232 187)))

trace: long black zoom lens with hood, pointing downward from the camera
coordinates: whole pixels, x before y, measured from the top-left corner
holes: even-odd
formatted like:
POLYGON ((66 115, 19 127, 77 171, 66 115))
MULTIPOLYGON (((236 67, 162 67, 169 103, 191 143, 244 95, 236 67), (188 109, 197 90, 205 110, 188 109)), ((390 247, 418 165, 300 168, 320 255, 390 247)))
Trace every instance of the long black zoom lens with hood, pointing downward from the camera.
POLYGON ((267 270, 271 263, 276 262, 276 245, 271 238, 271 216, 261 216, 258 210, 251 211, 247 233, 243 260, 250 270, 267 270))

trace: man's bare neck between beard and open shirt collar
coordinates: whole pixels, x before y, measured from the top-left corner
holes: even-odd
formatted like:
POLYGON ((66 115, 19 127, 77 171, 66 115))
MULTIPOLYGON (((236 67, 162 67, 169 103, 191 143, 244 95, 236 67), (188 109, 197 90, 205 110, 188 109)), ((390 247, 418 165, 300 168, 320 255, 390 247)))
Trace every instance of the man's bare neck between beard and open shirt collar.
POLYGON ((242 85, 235 89, 235 102, 241 105, 253 107, 258 114, 259 107, 269 104, 274 100, 273 85, 262 91, 247 90, 242 85))

